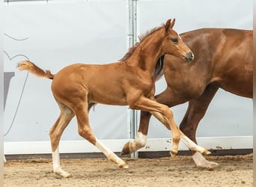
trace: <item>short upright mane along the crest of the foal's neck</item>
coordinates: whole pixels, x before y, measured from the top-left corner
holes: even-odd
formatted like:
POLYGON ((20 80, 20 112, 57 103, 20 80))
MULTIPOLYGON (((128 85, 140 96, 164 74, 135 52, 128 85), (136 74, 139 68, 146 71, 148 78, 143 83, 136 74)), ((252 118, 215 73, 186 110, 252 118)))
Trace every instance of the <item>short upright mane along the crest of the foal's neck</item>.
POLYGON ((140 36, 138 36, 139 42, 135 43, 134 46, 129 48, 129 51, 127 52, 127 54, 125 54, 124 57, 121 58, 119 61, 126 61, 133 54, 135 49, 137 49, 138 45, 145 40, 146 37, 150 36, 151 34, 153 34, 156 31, 159 31, 164 26, 165 25, 162 24, 161 26, 152 28, 150 31, 146 31, 144 34, 141 34, 140 36))

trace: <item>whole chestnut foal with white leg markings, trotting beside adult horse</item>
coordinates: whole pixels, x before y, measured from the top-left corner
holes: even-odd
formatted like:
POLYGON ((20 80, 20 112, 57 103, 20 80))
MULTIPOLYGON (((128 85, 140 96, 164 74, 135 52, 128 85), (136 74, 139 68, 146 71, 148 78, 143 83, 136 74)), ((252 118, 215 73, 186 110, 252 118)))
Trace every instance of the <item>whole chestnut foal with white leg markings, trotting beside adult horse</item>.
POLYGON ((168 129, 171 129, 173 155, 177 154, 180 139, 190 150, 210 153, 187 138, 174 123, 173 114, 168 106, 159 104, 154 99, 156 79, 154 72, 157 74, 158 59, 165 54, 174 55, 188 62, 193 59, 191 50, 173 30, 174 22, 175 19, 173 21, 168 19, 165 25, 147 33, 141 38, 140 43, 132 47, 127 55, 116 63, 73 64, 64 67, 55 75, 52 75, 49 70, 46 72, 41 70, 30 61, 18 64, 19 70, 28 70, 36 76, 52 79, 52 93, 61 110, 58 120, 49 132, 55 174, 62 177, 71 176, 61 169, 58 144, 62 132, 75 115, 79 135, 94 144, 120 168, 128 168, 128 165, 103 145, 91 131, 88 111, 95 103, 129 105, 132 109, 149 111, 168 129))

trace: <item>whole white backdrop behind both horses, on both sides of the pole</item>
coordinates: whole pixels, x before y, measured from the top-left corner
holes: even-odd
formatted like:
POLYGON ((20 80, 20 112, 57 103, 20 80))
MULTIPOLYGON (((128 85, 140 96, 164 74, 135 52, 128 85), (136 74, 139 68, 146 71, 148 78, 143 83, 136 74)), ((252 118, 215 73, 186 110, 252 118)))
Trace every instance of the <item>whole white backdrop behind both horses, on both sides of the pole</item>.
MULTIPOLYGON (((58 0, 4 6, 4 72, 15 73, 10 79, 4 109, 5 153, 48 153, 49 128, 59 112, 50 91, 51 81, 19 72, 16 63, 29 58, 39 67, 56 73, 76 62, 106 64, 118 61, 127 52, 129 43, 128 2, 58 0), (41 146, 40 142, 43 142, 41 146), (45 149, 42 148, 44 142, 45 149)), ((177 19, 174 28, 180 33, 204 27, 252 29, 252 0, 140 0, 137 7, 138 34, 174 17, 177 19)), ((158 93, 163 91, 164 79, 156 85, 158 93)), ((186 104, 172 109, 175 120, 180 123, 186 104)), ((122 144, 129 138, 127 107, 97 105, 95 111, 91 110, 90 122, 97 138, 122 139, 106 142, 111 142, 115 151, 121 151, 122 144)), ((170 135, 156 119, 150 120, 149 138, 170 138, 170 135)), ((216 138, 212 137, 226 136, 249 136, 246 143, 239 146, 252 147, 252 99, 219 91, 201 120, 198 137, 214 141, 216 138)), ((222 138, 216 143, 204 141, 203 145, 214 148, 222 138)), ((67 127, 61 140, 66 145, 82 141, 76 120, 67 127)), ((87 144, 82 143, 82 146, 79 150, 72 144, 63 152, 94 151, 87 144)), ((166 147, 162 143, 161 146, 166 147)), ((225 142, 224 147, 232 146, 232 141, 225 142)), ((162 150, 162 147, 157 149, 162 150)))

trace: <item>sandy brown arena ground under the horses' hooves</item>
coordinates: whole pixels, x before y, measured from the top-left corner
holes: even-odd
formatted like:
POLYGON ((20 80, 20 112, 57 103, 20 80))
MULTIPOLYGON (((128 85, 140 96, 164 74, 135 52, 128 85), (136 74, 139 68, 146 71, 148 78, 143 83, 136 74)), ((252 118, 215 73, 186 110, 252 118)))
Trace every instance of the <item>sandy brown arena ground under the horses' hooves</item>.
POLYGON ((252 186, 252 154, 206 156, 219 167, 214 171, 195 168, 191 156, 160 159, 128 159, 128 169, 107 159, 62 159, 73 177, 52 173, 51 159, 13 160, 4 164, 4 186, 252 186))

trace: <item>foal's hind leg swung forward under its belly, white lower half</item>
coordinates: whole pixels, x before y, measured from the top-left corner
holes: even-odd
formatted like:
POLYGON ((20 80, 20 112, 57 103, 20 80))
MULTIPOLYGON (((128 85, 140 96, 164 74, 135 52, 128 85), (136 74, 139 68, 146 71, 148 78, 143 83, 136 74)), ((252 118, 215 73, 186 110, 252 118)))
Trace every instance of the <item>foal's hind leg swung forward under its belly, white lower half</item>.
POLYGON ((128 168, 128 165, 115 155, 108 147, 103 145, 97 138, 94 133, 91 131, 91 126, 88 121, 88 102, 81 101, 76 104, 74 112, 76 114, 76 119, 78 123, 79 135, 83 138, 94 144, 100 151, 103 152, 106 157, 118 164, 120 168, 128 168))

